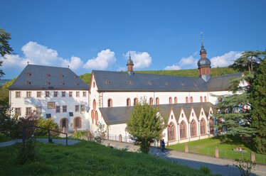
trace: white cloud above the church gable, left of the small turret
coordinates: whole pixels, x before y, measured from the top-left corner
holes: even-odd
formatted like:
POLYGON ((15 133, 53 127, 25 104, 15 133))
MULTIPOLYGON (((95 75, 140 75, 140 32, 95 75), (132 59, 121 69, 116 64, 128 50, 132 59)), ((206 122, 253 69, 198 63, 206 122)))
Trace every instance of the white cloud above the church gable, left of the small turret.
POLYGON ((83 65, 83 68, 87 70, 105 70, 109 67, 110 64, 114 63, 115 61, 115 52, 111 51, 110 49, 102 50, 97 54, 96 58, 87 60, 85 65, 83 65))

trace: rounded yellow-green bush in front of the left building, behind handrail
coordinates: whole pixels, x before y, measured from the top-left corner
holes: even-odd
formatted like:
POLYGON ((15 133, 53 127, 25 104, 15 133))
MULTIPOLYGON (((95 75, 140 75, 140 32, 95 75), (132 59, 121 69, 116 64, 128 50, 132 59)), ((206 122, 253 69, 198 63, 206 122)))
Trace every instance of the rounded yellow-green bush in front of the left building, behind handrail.
MULTIPOLYGON (((50 130, 54 130, 54 131, 59 131, 59 126, 58 126, 58 123, 55 123, 55 120, 54 119, 43 119, 43 118, 40 118, 38 119, 38 123, 37 123, 37 126, 40 126, 42 128, 47 128, 47 129, 50 129, 50 130)), ((43 129, 40 129, 40 128, 36 128, 36 133, 40 136, 48 136, 48 130, 43 130, 43 129)), ((53 131, 50 131, 50 136, 58 136, 59 133, 55 133, 53 131)))

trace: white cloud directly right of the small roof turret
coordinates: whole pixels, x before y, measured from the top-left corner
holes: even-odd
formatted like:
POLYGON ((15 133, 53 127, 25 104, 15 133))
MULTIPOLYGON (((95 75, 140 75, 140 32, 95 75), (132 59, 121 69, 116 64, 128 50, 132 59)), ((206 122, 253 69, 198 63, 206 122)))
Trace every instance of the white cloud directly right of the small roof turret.
POLYGON ((134 62, 135 69, 147 68, 151 65, 151 56, 147 52, 137 52, 134 50, 129 50, 125 57, 129 57, 129 53, 131 55, 131 59, 134 62))

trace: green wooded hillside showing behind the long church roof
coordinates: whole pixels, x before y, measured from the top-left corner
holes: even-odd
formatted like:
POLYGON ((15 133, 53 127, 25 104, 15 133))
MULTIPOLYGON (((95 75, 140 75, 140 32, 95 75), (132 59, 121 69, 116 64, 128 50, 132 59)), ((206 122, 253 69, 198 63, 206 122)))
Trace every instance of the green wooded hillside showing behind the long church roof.
MULTIPOLYGON (((190 69, 190 70, 146 70, 146 71, 134 71, 139 73, 146 73, 146 74, 157 74, 157 75, 176 75, 176 76, 183 76, 183 77, 198 77, 198 69, 190 69)), ((219 75, 227 75, 231 73, 236 73, 238 70, 233 70, 230 67, 216 67, 211 68, 211 76, 217 77, 219 75)), ((80 75, 80 78, 83 79, 84 82, 90 84, 90 73, 85 73, 80 75)))

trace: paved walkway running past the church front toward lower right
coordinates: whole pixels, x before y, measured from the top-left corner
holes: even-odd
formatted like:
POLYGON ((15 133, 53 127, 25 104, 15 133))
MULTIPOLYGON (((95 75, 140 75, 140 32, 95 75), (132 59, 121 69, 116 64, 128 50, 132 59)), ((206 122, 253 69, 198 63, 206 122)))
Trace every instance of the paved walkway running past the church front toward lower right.
MULTIPOLYGON (((138 147, 131 143, 119 143, 117 141, 105 141, 104 144, 110 145, 114 148, 137 152, 138 147)), ((159 148, 151 148, 150 153, 166 160, 179 163, 181 165, 188 165, 196 169, 201 169, 201 165, 206 165, 210 168, 211 173, 220 175, 240 175, 240 171, 234 166, 233 160, 213 158, 208 155, 198 155, 195 153, 183 153, 177 150, 166 150, 162 153, 159 148)), ((252 175, 266 175, 265 165, 256 165, 255 170, 252 170, 252 175)))

